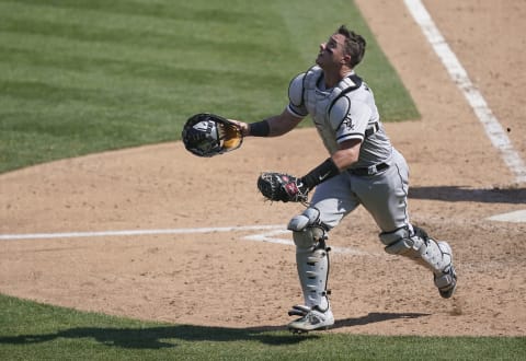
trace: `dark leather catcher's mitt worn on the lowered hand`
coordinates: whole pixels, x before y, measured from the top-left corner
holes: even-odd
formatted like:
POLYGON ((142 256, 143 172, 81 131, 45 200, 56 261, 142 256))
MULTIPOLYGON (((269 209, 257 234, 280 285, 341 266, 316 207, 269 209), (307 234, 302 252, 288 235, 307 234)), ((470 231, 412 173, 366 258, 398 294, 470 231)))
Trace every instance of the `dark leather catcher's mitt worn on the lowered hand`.
POLYGON ((268 200, 306 202, 309 189, 293 175, 265 172, 258 178, 258 189, 268 200))

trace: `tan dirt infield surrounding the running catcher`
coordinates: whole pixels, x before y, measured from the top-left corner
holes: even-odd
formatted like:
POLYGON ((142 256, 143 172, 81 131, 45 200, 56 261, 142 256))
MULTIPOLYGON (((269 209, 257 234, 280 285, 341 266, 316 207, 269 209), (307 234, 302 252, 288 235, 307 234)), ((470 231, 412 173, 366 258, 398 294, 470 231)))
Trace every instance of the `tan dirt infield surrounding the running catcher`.
MULTIPOLYGON (((525 160, 524 1, 424 3, 525 160)), ((526 223, 488 220, 526 209, 525 185, 514 184, 403 2, 357 4, 422 114, 386 128, 411 166, 412 220, 451 244, 459 282, 451 300, 441 299, 428 271, 384 253, 358 209, 330 235, 331 331, 525 336, 526 223)), ((289 242, 264 226, 284 229, 301 207, 263 202, 255 178, 265 170, 302 174, 325 158, 306 129, 248 139, 215 159, 168 143, 1 175, 0 234, 88 233, 0 241, 0 292, 145 319, 282 328, 301 302, 294 247, 254 241, 289 242), (307 154, 289 151, 305 144, 307 154), (174 231, 92 233, 112 230, 174 231)))

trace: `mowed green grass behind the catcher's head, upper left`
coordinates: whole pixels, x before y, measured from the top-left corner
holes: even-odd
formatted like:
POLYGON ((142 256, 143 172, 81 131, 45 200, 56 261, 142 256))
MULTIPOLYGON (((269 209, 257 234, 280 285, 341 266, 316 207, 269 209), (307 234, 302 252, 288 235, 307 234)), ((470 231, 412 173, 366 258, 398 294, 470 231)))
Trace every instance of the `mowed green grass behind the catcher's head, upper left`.
POLYGON ((418 118, 348 1, 0 0, 0 173, 178 140, 195 113, 278 113, 342 23, 368 39, 382 118, 418 118))

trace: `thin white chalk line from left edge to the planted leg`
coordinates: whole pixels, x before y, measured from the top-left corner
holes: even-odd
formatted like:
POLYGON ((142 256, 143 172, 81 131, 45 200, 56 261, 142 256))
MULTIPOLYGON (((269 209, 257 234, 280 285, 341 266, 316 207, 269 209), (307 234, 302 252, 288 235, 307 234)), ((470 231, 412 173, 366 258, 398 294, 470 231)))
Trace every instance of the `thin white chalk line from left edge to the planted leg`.
POLYGON ((0 234, 0 241, 128 236, 128 235, 156 235, 156 234, 215 233, 215 232, 261 231, 261 230, 276 230, 276 229, 283 230, 284 225, 241 225, 241 226, 219 226, 219 228, 202 228, 202 229, 173 229, 173 230, 129 230, 129 231, 103 231, 103 232, 0 234))

